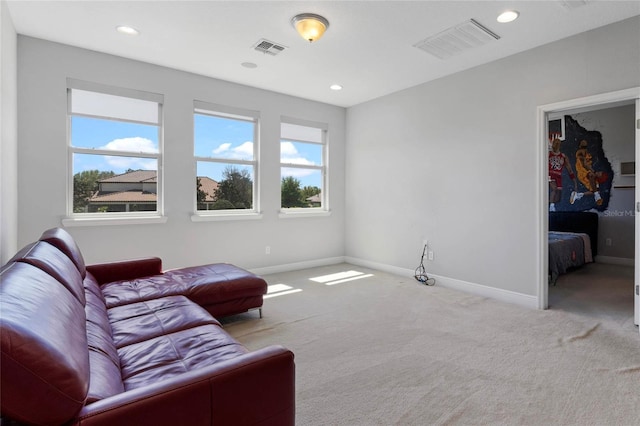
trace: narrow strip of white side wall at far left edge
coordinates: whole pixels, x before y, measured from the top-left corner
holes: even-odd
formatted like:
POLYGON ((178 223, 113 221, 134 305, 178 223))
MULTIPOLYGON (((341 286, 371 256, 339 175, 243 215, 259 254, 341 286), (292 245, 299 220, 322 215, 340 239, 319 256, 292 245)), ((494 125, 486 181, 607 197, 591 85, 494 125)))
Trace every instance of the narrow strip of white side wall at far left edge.
POLYGON ((0 263, 13 256, 18 240, 18 117, 16 31, 0 1, 0 263))

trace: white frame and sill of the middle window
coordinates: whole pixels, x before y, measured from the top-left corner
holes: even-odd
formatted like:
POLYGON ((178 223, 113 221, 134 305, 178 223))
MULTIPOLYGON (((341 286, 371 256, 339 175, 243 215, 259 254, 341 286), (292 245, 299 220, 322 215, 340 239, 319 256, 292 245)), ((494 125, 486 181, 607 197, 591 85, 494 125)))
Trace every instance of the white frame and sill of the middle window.
POLYGON ((210 162, 220 164, 237 164, 240 166, 253 167, 253 188, 252 188, 252 208, 251 209, 229 209, 229 210, 198 210, 197 191, 193 191, 193 211, 191 220, 193 222, 205 222, 215 220, 254 220, 261 219, 260 211, 260 113, 243 108, 236 108, 227 105, 219 105, 205 101, 193 101, 194 117, 194 176, 193 182, 197 179, 198 162, 210 162), (253 123, 253 160, 238 160, 223 157, 202 157, 195 155, 195 116, 196 114, 208 115, 211 117, 228 118, 253 123))

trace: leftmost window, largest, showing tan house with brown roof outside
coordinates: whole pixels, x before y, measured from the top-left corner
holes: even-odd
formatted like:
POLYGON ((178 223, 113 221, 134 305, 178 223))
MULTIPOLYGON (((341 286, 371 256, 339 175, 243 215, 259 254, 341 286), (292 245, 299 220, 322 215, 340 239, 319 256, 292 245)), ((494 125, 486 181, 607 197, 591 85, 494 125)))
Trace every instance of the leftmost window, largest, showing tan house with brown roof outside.
POLYGON ((162 96, 70 82, 71 216, 161 213, 162 96))

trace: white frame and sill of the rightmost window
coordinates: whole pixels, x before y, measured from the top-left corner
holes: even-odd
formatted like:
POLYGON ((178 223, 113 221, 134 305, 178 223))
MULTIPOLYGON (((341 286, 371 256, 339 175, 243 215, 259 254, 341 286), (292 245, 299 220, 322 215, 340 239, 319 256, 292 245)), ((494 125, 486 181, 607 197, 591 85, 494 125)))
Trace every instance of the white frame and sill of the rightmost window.
MULTIPOLYGON (((282 192, 279 192, 280 199, 280 215, 281 219, 286 218, 294 218, 294 217, 309 217, 309 216, 329 216, 331 214, 331 209, 329 208, 329 143, 327 133, 329 130, 329 126, 326 123, 320 123, 316 121, 309 121, 294 117, 281 116, 280 117, 280 126, 282 124, 294 124, 298 126, 312 127, 314 129, 319 129, 321 131, 322 140, 321 142, 317 141, 308 141, 302 139, 290 139, 290 138, 282 138, 282 134, 280 135, 278 146, 281 146, 283 140, 291 141, 291 142, 302 142, 302 143, 310 143, 317 144, 322 146, 322 164, 321 165, 304 165, 304 164, 294 164, 294 163, 283 163, 280 161, 280 182, 282 183, 282 169, 311 169, 311 170, 319 170, 321 173, 321 182, 322 187, 320 188, 321 194, 321 202, 320 207, 282 207, 282 192)), ((281 159, 281 156, 278 156, 281 159)))

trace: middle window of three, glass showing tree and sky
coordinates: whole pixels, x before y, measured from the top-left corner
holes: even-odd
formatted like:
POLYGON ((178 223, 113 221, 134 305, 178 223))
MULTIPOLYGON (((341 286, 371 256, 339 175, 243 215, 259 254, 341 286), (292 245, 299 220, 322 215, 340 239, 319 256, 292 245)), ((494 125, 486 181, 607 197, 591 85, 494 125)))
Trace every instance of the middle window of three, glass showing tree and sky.
POLYGON ((196 211, 257 212, 258 114, 199 101, 194 106, 196 211))

